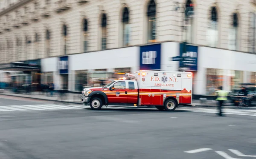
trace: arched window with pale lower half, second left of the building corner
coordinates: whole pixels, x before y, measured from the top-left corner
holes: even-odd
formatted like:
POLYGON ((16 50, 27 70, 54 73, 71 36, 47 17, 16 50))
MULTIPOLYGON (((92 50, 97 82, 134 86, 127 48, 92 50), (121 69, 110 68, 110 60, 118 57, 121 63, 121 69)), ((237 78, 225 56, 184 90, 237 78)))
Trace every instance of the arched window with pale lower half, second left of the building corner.
POLYGON ((123 14, 122 14, 122 41, 123 41, 123 46, 128 46, 129 45, 129 36, 130 36, 130 26, 129 26, 129 11, 128 8, 125 7, 123 9, 123 14))

